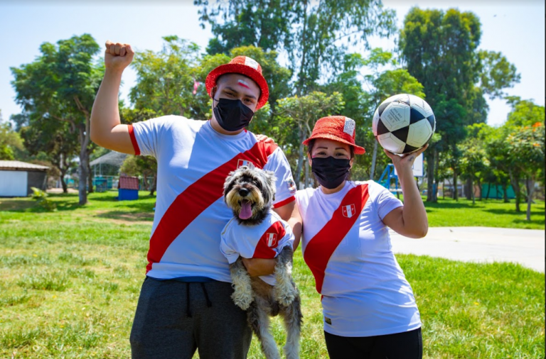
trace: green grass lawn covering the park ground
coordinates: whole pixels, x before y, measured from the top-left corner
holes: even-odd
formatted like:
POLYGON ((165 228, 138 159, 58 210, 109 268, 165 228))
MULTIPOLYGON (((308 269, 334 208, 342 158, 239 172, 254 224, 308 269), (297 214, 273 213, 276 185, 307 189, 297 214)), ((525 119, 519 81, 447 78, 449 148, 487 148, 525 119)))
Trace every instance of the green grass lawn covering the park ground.
MULTIPOLYGON (((75 195, 53 195, 55 212, 30 199, 0 199, 0 358, 129 358, 155 198, 115 196, 91 194, 82 208, 75 195)), ((465 201, 427 206, 431 226, 442 223, 442 211, 451 213, 447 226, 475 226, 477 212, 513 210, 489 201, 470 211, 460 206, 465 201)), ((397 258, 421 311, 424 358, 545 357, 543 273, 509 263, 397 258)), ((294 277, 304 312, 301 358, 327 358, 320 296, 300 251, 294 277)), ((282 346, 278 319, 273 332, 282 346)), ((262 358, 256 339, 249 358, 262 358)))

